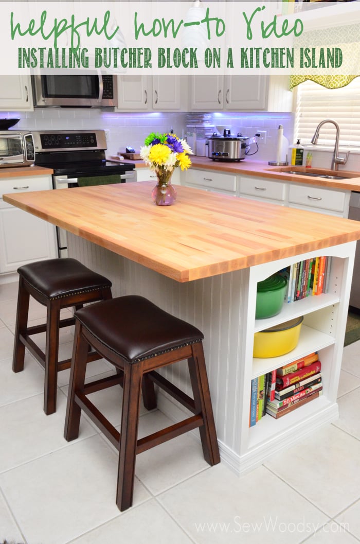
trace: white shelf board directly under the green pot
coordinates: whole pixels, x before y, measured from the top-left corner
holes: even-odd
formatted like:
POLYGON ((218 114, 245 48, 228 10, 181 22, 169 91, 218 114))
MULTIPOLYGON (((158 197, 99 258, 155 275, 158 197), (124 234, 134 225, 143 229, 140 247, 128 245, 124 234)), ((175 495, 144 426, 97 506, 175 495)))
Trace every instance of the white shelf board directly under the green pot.
POLYGON ((284 303, 281 312, 277 316, 256 319, 254 332, 263 331, 279 323, 285 323, 285 321, 289 321, 296 316, 305 316, 307 313, 338 304, 339 300, 338 293, 322 293, 318 296, 306 296, 305 299, 296 300, 295 302, 290 302, 290 304, 284 303))

